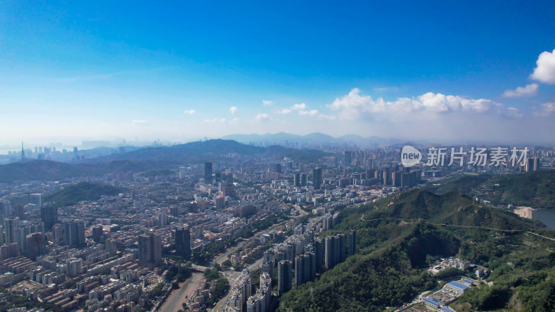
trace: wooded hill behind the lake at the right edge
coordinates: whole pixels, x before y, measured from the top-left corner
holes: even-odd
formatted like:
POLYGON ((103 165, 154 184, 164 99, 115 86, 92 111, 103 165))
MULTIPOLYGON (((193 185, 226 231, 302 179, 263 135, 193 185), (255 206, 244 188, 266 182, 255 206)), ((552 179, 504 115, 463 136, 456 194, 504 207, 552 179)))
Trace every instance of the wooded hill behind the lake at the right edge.
POLYGON ((429 185, 436 193, 457 191, 494 205, 555 209, 555 170, 513 175, 467 175, 429 185))

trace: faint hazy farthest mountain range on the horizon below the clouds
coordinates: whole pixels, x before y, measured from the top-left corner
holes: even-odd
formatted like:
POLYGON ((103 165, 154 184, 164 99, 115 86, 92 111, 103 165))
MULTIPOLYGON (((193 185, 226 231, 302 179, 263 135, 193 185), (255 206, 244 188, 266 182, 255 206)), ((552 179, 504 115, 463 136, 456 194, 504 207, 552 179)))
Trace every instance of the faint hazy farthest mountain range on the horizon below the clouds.
POLYGON ((343 135, 341 137, 332 137, 330 135, 325 135, 320 132, 310 133, 308 135, 292 135, 286 132, 278 133, 266 133, 265 135, 226 135, 222 139, 232 139, 239 141, 244 144, 253 144, 261 146, 269 145, 286 145, 293 142, 298 142, 299 144, 324 144, 324 145, 336 145, 336 144, 356 144, 357 146, 371 146, 374 144, 388 145, 388 144, 400 144, 404 140, 400 139, 386 139, 382 137, 361 137, 360 135, 343 135))

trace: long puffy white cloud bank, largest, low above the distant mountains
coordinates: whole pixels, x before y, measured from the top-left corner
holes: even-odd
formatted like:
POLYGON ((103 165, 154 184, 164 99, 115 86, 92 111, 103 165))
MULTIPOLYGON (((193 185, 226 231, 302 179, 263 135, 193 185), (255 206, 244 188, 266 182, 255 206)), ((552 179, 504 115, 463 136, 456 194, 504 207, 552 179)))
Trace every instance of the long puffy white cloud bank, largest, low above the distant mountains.
MULTIPOLYGON (((509 111, 503 104, 484 98, 467 99, 461 96, 446 96, 428 92, 416 98, 398 98, 396 101, 385 101, 383 98, 373 99, 371 96, 361 96, 360 90, 355 88, 343 98, 336 98, 327 105, 330 110, 339 111, 339 119, 349 120, 359 117, 388 117, 389 119, 406 115, 407 113, 449 114, 452 112, 484 114, 497 113, 504 116, 515 116, 517 109, 509 111)), ((415 114, 411 117, 416 118, 415 114)))

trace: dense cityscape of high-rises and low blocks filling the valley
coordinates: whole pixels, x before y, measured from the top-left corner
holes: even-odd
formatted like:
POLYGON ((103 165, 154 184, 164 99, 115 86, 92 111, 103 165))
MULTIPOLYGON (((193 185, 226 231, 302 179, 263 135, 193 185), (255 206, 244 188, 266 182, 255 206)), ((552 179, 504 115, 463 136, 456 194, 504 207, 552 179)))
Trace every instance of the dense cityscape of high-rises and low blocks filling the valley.
MULTIPOLYGON (((332 232, 342 211, 448 177, 554 164, 553 149, 533 148, 522 166, 447 165, 447 155, 443 166, 405 167, 401 147, 321 146, 323 157, 304 161, 228 153, 138 173, 3 183, 3 297, 28 298, 26 311, 273 311, 284 293, 357 253, 355 229, 332 232)), ((11 165, 35 162, 26 155, 11 165)), ((467 287, 488 270, 472 266, 467 287)))

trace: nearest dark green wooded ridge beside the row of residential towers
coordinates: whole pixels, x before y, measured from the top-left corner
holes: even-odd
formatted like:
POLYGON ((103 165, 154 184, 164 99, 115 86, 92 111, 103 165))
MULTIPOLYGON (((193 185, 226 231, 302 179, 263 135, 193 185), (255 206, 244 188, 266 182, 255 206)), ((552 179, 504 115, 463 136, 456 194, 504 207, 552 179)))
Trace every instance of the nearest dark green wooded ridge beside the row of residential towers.
POLYGON ((446 232, 410 225, 402 236, 348 257, 318 281, 289 291, 280 299, 278 311, 384 311, 386 306, 400 306, 436 284, 416 263, 421 262, 420 252, 436 254, 439 250, 430 247, 437 244, 450 246, 441 250, 447 255, 456 252, 457 241, 446 232))

